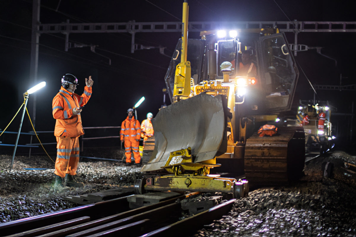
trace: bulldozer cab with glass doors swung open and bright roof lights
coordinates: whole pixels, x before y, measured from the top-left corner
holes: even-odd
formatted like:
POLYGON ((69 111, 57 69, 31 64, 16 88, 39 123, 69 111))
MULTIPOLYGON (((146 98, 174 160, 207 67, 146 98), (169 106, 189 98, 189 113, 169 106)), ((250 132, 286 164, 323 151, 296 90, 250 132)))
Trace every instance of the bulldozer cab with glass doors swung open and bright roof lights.
MULTIPOLYGON (((165 77, 171 102, 174 72, 179 63, 181 42, 179 40, 177 43, 165 77)), ((235 38, 220 39, 215 42, 208 37, 207 40, 188 39, 187 60, 190 61, 192 68, 192 83, 197 85, 204 80, 222 79, 220 65, 230 62, 231 79, 235 79, 236 76, 248 76, 255 77, 257 81, 254 89, 248 91, 245 105, 240 106, 243 107, 244 115, 275 114, 290 110, 299 72, 285 35, 276 33, 257 37, 248 50, 244 50, 245 46, 235 38), (209 56, 211 47, 216 54, 213 55, 214 60, 209 56), (244 65, 245 54, 250 57, 252 63, 244 65), (211 71, 214 72, 214 78, 211 76, 211 71)))

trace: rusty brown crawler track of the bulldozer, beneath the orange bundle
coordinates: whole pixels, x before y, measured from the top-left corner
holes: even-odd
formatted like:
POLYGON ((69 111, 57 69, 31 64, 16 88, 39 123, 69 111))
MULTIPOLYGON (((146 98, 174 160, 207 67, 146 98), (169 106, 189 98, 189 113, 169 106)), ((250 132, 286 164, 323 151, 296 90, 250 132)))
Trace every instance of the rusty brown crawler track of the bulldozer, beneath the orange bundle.
POLYGON ((301 177, 304 167, 304 130, 280 127, 271 137, 257 133, 246 140, 245 175, 252 184, 278 185, 301 177))

